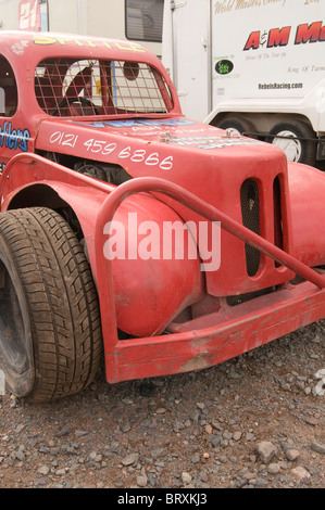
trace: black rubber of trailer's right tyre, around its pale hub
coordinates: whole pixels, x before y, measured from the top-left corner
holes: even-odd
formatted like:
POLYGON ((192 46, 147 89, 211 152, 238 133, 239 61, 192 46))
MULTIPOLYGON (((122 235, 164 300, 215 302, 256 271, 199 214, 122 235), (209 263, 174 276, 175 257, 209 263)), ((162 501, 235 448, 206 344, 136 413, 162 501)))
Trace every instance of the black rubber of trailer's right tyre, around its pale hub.
POLYGON ((316 149, 317 143, 313 140, 316 140, 316 135, 310 126, 304 123, 297 120, 290 120, 289 123, 279 123, 276 124, 266 137, 266 142, 274 143, 276 135, 279 135, 283 131, 288 131, 292 133, 292 138, 298 138, 302 140, 297 140, 297 143, 300 145, 300 156, 297 158, 288 157, 288 161, 296 161, 296 163, 303 163, 305 165, 314 166, 316 162, 316 149))

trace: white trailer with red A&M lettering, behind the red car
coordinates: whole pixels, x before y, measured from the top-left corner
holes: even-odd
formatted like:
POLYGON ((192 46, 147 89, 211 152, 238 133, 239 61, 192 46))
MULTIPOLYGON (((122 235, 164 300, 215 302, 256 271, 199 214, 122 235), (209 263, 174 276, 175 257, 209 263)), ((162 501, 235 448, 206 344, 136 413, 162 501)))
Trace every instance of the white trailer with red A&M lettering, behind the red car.
POLYGON ((163 63, 184 113, 325 160, 325 0, 165 0, 163 63))

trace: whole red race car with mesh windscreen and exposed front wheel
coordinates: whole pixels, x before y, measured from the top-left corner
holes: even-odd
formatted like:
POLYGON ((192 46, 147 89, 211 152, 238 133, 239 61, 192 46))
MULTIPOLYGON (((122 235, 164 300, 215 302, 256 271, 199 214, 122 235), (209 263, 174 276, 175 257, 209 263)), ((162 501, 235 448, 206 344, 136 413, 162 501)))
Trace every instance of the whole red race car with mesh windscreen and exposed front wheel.
MULTIPOLYGON (((198 98, 199 100, 199 98, 198 98)), ((139 44, 0 33, 0 368, 34 401, 325 317, 325 176, 186 118, 139 44)))

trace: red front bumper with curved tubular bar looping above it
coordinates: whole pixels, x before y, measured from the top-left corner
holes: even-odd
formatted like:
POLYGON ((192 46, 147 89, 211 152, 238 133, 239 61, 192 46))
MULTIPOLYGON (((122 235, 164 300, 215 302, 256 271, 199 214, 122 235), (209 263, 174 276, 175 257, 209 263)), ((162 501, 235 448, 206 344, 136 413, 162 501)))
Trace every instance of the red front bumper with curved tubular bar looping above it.
POLYGON ((116 188, 96 224, 97 285, 101 304, 105 371, 109 383, 182 373, 212 367, 325 317, 325 277, 177 184, 138 178, 116 188), (305 280, 272 294, 203 316, 157 336, 118 340, 112 266, 104 257, 104 225, 118 205, 139 192, 164 193, 305 280))

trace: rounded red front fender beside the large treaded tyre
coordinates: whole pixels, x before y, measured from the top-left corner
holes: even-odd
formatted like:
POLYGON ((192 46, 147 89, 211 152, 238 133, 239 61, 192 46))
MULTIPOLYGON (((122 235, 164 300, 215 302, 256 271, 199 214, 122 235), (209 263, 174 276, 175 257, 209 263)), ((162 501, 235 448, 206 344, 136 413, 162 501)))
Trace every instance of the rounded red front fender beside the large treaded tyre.
MULTIPOLYGON (((107 284, 102 272, 99 277, 97 251, 105 248, 108 235, 97 245, 95 229, 102 204, 116 190, 115 186, 28 154, 14 157, 5 167, 0 190, 2 211, 33 206, 54 209, 71 207, 83 230, 97 288, 107 284)), ((150 335, 163 331, 173 318, 203 296, 204 277, 200 271, 196 244, 195 257, 191 258, 179 259, 175 253, 168 259, 138 256, 143 232, 129 234, 129 214, 133 219, 136 217, 138 225, 154 224, 161 232, 164 221, 184 222, 171 207, 148 193, 130 196, 114 215, 114 220, 125 227, 124 242, 128 254, 136 253, 136 257, 112 257, 110 262, 117 324, 128 334, 150 335)), ((195 243, 190 234, 188 240, 195 243)), ((163 242, 160 246, 163 250, 163 242)), ((100 304, 103 310, 112 306, 107 302, 100 304)))

